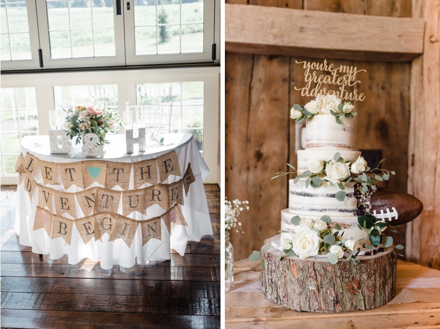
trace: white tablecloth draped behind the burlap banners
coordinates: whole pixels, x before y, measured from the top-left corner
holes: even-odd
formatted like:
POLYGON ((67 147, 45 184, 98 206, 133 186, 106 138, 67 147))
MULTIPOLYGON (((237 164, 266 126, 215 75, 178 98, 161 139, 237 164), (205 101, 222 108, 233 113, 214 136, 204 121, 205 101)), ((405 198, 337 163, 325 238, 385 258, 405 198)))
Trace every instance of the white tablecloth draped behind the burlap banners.
MULTIPOLYGON (((48 136, 26 136, 22 139, 22 154, 26 152, 34 155, 40 160, 66 163, 84 160, 107 160, 115 162, 133 163, 141 160, 149 160, 176 150, 179 159, 181 174, 183 175, 188 163, 191 163, 196 181, 190 185, 188 195, 184 195, 184 206, 181 206, 182 213, 188 226, 176 225, 170 237, 165 224, 162 222, 161 241, 151 239, 142 247, 142 236, 140 226, 138 226, 132 246, 129 248, 122 239, 109 242, 109 235, 104 234, 101 241, 91 239, 87 245, 84 244, 78 230, 74 226, 71 244, 68 246, 62 238, 51 239, 44 231, 38 229, 33 231, 36 207, 38 205, 38 190, 33 194, 32 200, 24 189, 24 180, 18 185, 16 230, 20 235, 20 244, 32 247, 32 251, 39 254, 48 254, 50 259, 58 259, 63 255, 68 256, 69 264, 77 264, 84 258, 92 261, 100 261, 101 267, 109 269, 113 266, 113 260, 117 260, 122 267, 132 267, 137 263, 147 261, 163 261, 171 259, 171 249, 176 250, 180 255, 184 255, 188 240, 200 241, 203 235, 212 234, 211 221, 209 218, 208 205, 206 202, 203 188, 203 180, 209 174, 209 168, 203 161, 191 134, 168 134, 164 135, 164 145, 150 142, 147 151, 139 153, 135 145, 133 154, 126 154, 125 135, 108 135, 110 144, 104 147, 106 150, 104 158, 86 158, 81 153, 82 144, 78 144, 68 154, 50 154, 48 136)), ((164 182, 165 184, 176 182, 180 176, 171 175, 164 182)), ((41 172, 35 176, 37 183, 43 184, 41 172)), ((49 185, 55 190, 64 190, 61 176, 58 172, 57 182, 60 185, 49 185)), ((96 186, 97 183, 95 183, 96 186)), ((95 186, 92 185, 92 186, 95 186)), ((114 189, 117 189, 116 186, 114 189)), ((130 189, 134 188, 133 173, 130 177, 130 189)), ((82 189, 76 185, 70 186, 66 192, 78 192, 82 189)), ((77 203, 78 207, 78 203, 77 203)), ((122 213, 122 206, 119 206, 118 213, 122 213)), ((131 218, 144 220, 161 215, 165 210, 158 205, 148 208, 148 217, 134 212, 131 218)))

